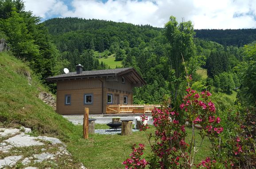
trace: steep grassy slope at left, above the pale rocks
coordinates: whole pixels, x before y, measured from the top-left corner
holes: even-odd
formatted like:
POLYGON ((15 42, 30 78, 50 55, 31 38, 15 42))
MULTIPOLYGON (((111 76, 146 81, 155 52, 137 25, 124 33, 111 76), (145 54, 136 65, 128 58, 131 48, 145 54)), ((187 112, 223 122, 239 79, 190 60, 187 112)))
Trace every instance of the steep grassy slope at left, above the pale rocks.
POLYGON ((74 126, 38 98, 47 91, 20 60, 0 53, 0 127, 29 127, 67 141, 74 126))

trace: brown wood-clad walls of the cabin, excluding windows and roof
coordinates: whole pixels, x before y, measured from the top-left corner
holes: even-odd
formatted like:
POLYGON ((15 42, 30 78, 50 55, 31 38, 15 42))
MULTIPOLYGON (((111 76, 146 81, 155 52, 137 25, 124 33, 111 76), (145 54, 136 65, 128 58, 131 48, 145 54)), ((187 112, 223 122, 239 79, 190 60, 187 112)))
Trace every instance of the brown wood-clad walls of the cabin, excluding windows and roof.
MULTIPOLYGON (((128 96, 128 104, 132 104, 132 84, 122 77, 118 81, 105 81, 105 78, 65 80, 57 82, 57 113, 62 115, 83 114, 84 108, 89 108, 89 114, 106 113, 107 94, 119 95, 120 104, 124 104, 124 96, 128 96), (102 83, 103 81, 103 112, 102 112, 102 83), (93 94, 93 104, 84 104, 85 94, 93 94), (71 104, 65 105, 65 96, 71 96, 71 104)), ((114 103, 113 103, 114 104, 114 103)))

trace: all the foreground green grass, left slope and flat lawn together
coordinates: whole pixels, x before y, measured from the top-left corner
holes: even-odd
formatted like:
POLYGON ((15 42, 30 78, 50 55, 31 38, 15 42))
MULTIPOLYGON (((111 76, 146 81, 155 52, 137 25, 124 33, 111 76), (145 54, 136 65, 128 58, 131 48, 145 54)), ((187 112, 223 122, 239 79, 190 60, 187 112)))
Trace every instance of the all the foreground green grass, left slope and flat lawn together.
MULTIPOLYGON (((82 126, 74 126, 53 108, 38 98, 40 91, 47 92, 26 64, 7 53, 0 53, 0 127, 29 127, 34 135, 47 135, 60 138, 74 157, 74 162, 82 162, 88 169, 121 169, 121 162, 131 153, 130 147, 136 143, 146 145, 145 154, 151 150, 143 132, 131 136, 90 134, 82 138, 82 126), (31 85, 28 76, 32 77, 31 85)), ((96 125, 96 128, 108 128, 96 125)), ((188 134, 191 134, 191 130, 188 134)), ((154 132, 154 129, 150 129, 154 132)), ((198 134, 197 134, 198 136, 198 134)), ((24 149, 25 150, 25 149, 24 149)), ((209 142, 203 142, 197 161, 209 154, 209 142)), ((29 154, 34 150, 25 150, 29 154)), ((73 158, 72 157, 72 158, 73 158)), ((60 163, 66 168, 68 158, 60 163)), ((50 164, 42 164, 43 167, 50 164)), ((41 167, 41 168, 43 168, 41 167)), ((61 167, 61 166, 59 166, 61 167)), ((72 167, 68 167, 72 168, 72 167)))

